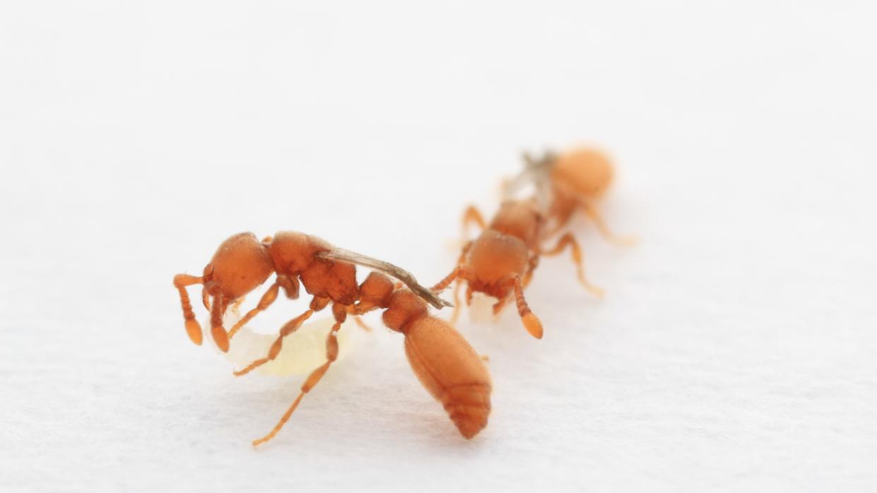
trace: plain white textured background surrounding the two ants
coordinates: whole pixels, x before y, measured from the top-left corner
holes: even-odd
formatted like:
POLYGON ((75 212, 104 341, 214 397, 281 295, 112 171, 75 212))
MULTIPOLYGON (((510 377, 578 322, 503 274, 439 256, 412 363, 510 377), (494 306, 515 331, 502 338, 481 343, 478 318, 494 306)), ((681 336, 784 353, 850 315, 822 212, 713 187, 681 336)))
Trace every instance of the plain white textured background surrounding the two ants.
POLYGON ((874 489, 872 5, 4 3, 0 489, 874 489), (193 346, 174 274, 296 230, 433 282, 521 150, 577 143, 642 241, 575 222, 608 296, 543 261, 541 341, 460 324, 484 432, 381 329, 250 447, 301 377, 193 346))

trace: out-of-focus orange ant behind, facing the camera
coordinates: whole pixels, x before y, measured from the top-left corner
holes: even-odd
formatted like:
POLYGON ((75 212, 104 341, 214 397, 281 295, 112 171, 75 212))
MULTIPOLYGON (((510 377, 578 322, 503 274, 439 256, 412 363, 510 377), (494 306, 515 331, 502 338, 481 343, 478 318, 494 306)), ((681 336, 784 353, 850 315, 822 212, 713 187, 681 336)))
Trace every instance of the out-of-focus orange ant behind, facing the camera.
POLYGON ((604 236, 617 242, 623 240, 610 233, 595 204, 614 175, 611 162, 603 154, 580 149, 560 155, 546 153, 539 160, 524 154, 524 161, 524 172, 507 183, 506 194, 510 195, 512 190, 529 180, 535 185, 536 195, 522 200, 505 200, 489 224, 481 212, 470 205, 463 214, 464 236, 470 223, 478 225, 481 234, 465 244, 457 266, 432 289, 441 292, 451 282, 457 281, 453 294, 457 307, 453 311, 452 323, 459 315, 460 281, 467 282, 467 304, 471 304, 474 291, 496 297, 494 315, 503 310, 513 295, 524 328, 536 339, 542 339, 542 323, 524 298, 524 288, 531 282, 539 257, 561 254, 569 247, 582 286, 596 297, 602 297, 603 291, 585 277, 581 247, 571 232, 562 235, 552 248, 544 250, 541 243, 567 225, 578 208, 595 219, 604 236), (549 229, 551 220, 554 224, 549 229))

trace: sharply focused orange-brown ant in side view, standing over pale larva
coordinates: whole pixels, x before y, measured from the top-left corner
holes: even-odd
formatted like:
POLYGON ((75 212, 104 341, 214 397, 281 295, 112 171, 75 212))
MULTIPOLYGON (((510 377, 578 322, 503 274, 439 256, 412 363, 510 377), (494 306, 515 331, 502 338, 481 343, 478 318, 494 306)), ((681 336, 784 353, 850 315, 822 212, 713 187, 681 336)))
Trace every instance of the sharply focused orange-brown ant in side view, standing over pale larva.
POLYGON ((226 239, 204 268, 203 276, 175 275, 180 292, 183 318, 189 338, 201 344, 198 325, 189 303, 186 286, 203 284, 202 297, 210 306, 210 332, 217 346, 228 350, 229 339, 241 326, 274 303, 282 288, 290 298, 298 296, 299 280, 313 296, 309 310, 282 326, 266 357, 253 361, 235 375, 246 375, 275 359, 282 340, 295 332, 314 311, 332 302, 335 324, 326 336, 326 361, 304 381, 301 392, 280 422, 265 437, 253 441, 257 446, 275 437, 286 424, 304 394, 317 385, 332 362, 338 358, 337 334, 348 313, 359 316, 384 309, 383 321, 390 329, 405 335, 405 352, 412 370, 433 397, 444 404, 460 433, 472 438, 487 425, 490 413, 490 377, 487 368, 466 339, 446 321, 431 317, 425 302, 437 308, 449 305, 417 283, 410 273, 388 262, 333 247, 322 239, 300 232, 279 232, 274 239, 256 239, 253 233, 240 233, 226 239), (355 265, 386 272, 409 289, 396 289, 386 275, 372 272, 362 284, 356 283, 355 265), (259 304, 246 313, 232 330, 225 332, 222 315, 229 304, 255 289, 272 274, 276 280, 259 304), (212 303, 208 298, 212 297, 212 303), (425 302, 424 302, 425 300, 425 302))

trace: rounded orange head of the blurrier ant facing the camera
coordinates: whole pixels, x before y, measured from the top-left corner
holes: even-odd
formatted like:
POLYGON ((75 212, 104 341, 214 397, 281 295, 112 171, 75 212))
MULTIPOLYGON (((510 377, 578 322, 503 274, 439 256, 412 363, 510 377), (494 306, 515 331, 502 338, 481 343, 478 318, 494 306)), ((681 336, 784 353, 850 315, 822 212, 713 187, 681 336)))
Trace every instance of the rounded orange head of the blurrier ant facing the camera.
POLYGON ((486 230, 475 240, 469 260, 479 282, 492 284, 507 275, 524 271, 528 260, 524 241, 508 234, 486 230))

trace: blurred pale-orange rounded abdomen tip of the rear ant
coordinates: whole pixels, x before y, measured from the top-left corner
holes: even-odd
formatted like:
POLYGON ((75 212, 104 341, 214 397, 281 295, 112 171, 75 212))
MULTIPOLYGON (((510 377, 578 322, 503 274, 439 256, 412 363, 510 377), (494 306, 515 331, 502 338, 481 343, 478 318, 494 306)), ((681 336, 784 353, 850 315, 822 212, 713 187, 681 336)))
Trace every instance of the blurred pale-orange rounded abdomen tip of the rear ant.
POLYGON ((590 198, 600 198, 609 188, 614 175, 609 157, 588 148, 561 154, 552 168, 555 185, 590 198))

